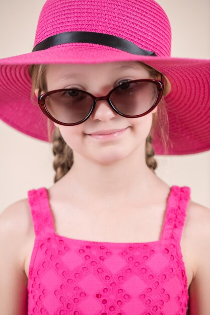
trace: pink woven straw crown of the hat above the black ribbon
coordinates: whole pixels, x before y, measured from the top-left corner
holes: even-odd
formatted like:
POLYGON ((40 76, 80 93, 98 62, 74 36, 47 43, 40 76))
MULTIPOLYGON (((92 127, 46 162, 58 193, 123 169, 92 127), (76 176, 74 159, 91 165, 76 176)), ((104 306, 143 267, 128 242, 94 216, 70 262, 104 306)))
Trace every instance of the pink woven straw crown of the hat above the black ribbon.
POLYGON ((87 30, 108 31, 158 56, 171 54, 170 22, 154 0, 48 0, 39 16, 34 47, 55 34, 87 30))

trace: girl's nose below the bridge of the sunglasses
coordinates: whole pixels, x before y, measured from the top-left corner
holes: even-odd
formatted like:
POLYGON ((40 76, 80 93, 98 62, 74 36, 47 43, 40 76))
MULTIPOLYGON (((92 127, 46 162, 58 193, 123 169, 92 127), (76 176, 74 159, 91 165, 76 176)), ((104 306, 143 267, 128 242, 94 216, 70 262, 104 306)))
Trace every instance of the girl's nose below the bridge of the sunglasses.
POLYGON ((108 101, 100 100, 96 102, 93 113, 90 116, 91 120, 108 121, 111 118, 117 117, 118 114, 111 108, 108 101))

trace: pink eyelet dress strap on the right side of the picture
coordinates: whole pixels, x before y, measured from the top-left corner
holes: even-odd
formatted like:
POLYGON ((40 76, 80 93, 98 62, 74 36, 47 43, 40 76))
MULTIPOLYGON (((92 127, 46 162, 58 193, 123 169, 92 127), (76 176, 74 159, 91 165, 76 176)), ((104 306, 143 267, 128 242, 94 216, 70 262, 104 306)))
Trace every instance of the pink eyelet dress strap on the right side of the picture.
POLYGON ((162 240, 174 239, 180 242, 186 210, 190 200, 190 192, 189 187, 171 187, 161 235, 162 240))

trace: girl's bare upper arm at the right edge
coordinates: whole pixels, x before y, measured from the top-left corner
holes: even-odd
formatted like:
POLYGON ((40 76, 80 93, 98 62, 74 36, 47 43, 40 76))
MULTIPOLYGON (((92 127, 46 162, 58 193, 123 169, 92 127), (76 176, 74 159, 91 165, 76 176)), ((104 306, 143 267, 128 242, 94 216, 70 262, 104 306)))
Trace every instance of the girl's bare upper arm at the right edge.
POLYGON ((210 314, 210 209, 196 204, 193 246, 195 275, 189 287, 189 315, 210 314))

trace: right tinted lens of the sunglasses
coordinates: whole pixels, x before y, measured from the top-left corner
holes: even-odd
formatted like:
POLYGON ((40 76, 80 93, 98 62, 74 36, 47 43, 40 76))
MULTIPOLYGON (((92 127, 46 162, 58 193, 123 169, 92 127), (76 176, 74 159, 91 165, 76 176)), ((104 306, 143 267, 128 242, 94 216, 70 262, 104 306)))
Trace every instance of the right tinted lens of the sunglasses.
POLYGON ((112 104, 125 115, 135 116, 147 112, 156 102, 158 87, 152 82, 127 82, 110 96, 112 104))

